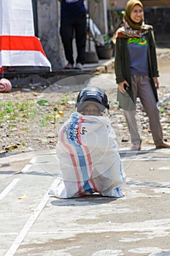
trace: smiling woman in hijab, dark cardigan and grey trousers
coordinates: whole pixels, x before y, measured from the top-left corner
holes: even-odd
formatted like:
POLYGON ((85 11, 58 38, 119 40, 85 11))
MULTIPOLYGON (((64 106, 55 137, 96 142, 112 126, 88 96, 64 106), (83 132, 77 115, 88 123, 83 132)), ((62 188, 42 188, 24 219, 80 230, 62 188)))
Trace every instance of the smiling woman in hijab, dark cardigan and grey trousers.
POLYGON ((157 107, 159 88, 158 65, 152 26, 144 24, 144 10, 139 0, 129 0, 123 15, 123 26, 117 30, 115 42, 115 75, 117 99, 123 109, 131 135, 131 150, 141 149, 136 124, 136 97, 139 97, 150 120, 155 148, 170 148, 163 142, 157 107))

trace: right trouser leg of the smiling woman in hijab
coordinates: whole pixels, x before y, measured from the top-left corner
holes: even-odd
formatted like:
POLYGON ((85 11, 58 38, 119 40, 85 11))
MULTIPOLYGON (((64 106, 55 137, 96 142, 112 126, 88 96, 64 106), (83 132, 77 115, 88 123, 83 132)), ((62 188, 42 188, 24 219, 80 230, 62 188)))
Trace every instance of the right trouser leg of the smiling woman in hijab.
POLYGON ((138 77, 138 93, 144 110, 150 121, 150 130, 155 144, 163 143, 163 132, 160 122, 159 110, 150 85, 150 78, 147 76, 138 77))

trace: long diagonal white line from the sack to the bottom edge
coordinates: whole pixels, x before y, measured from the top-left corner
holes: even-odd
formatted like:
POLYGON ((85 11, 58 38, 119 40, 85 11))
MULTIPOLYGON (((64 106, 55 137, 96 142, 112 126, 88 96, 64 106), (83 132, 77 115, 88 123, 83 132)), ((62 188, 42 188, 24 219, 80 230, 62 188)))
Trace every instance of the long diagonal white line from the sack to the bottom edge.
MULTIPOLYGON (((55 184, 55 181, 53 181, 52 186, 55 184)), ((44 197, 42 197, 42 200, 40 201, 39 205, 36 207, 34 213, 31 214, 31 216, 28 218, 28 221, 23 226, 23 229, 20 231, 18 236, 15 238, 15 241, 13 242, 12 246, 10 246, 10 248, 8 249, 5 256, 15 255, 15 252, 18 250, 18 247, 22 243, 23 239, 26 237, 26 235, 28 233, 28 230, 30 230, 30 228, 32 227, 32 225, 34 224, 36 219, 39 217, 39 214, 41 213, 41 211, 45 207, 49 197, 50 197, 50 195, 48 195, 48 191, 47 191, 47 193, 44 195, 44 197)))

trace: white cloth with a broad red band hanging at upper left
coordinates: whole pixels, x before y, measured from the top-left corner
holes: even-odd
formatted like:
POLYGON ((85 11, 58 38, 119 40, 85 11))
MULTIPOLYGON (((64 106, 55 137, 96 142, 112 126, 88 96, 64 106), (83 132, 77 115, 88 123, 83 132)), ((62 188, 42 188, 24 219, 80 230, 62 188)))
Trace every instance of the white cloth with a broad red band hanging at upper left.
POLYGON ((50 61, 34 34, 31 0, 0 0, 0 67, 42 66, 50 61))

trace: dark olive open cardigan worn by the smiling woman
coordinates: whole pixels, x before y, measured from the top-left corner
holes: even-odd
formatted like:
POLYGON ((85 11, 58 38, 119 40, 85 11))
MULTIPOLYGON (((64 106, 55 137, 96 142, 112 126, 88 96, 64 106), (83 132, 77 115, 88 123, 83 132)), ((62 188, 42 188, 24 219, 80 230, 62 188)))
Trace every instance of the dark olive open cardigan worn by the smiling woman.
MULTIPOLYGON (((153 31, 150 30, 145 35, 148 42, 148 62, 149 62, 149 76, 150 83, 152 86, 153 94, 155 95, 155 99, 158 102, 158 94, 157 89, 155 88, 155 83, 153 78, 158 77, 158 64, 156 58, 156 50, 155 50, 155 38, 153 31)), ((117 38, 115 45, 115 75, 116 82, 121 83, 126 80, 129 84, 128 91, 125 94, 117 91, 117 101, 120 104, 120 108, 124 110, 134 110, 135 102, 133 97, 133 91, 131 90, 131 69, 130 69, 130 56, 128 53, 128 45, 126 38, 117 38)))

